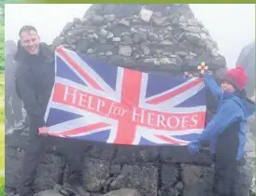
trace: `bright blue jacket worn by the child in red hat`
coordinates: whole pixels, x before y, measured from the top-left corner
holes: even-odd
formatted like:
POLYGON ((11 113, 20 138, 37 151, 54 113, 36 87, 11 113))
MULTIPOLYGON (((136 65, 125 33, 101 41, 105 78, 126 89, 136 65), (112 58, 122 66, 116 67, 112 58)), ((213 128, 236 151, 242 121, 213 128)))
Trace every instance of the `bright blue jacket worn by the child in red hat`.
MULTIPOLYGON (((243 156, 246 143, 247 119, 254 113, 254 103, 242 100, 234 93, 228 91, 222 92, 220 86, 208 74, 204 76, 204 81, 206 88, 212 92, 219 107, 214 117, 207 123, 206 129, 200 134, 197 140, 192 141, 188 145, 188 149, 192 154, 196 154, 202 147, 202 142, 209 142, 210 151, 215 153, 215 144, 220 133, 225 132, 230 125, 236 120, 239 120, 239 147, 236 156, 236 160, 238 161, 243 156)), ((228 142, 229 141, 227 141, 227 144, 228 142)))

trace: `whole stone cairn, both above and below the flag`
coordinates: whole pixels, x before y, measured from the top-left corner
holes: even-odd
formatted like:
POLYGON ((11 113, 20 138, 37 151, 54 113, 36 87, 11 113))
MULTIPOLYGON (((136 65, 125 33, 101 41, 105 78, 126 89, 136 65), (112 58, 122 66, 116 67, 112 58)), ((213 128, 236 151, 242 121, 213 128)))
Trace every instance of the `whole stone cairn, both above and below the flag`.
MULTIPOLYGON (((53 48, 59 45, 115 65, 170 75, 196 70, 202 62, 212 71, 225 69, 226 64, 188 5, 93 5, 83 19, 66 24, 52 43, 53 48)), ((17 192, 27 139, 25 130, 6 136, 7 195, 17 192)), ((213 195, 214 164, 207 150, 193 157, 186 147, 85 142, 81 156, 85 160, 83 186, 91 196, 213 195)), ((35 189, 64 184, 67 171, 61 150, 50 147, 38 168, 35 189)), ((241 196, 248 196, 249 174, 248 169, 241 179, 241 196)))

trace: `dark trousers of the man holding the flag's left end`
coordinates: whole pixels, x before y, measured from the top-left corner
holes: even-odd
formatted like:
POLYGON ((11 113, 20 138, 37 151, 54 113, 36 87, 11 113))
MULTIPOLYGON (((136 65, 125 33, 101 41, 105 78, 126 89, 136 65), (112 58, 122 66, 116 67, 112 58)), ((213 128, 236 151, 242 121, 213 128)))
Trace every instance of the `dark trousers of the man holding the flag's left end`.
MULTIPOLYGON (((38 126, 36 120, 30 120, 29 124, 29 141, 25 148, 23 162, 21 166, 21 189, 20 196, 32 196, 33 195, 33 183, 36 175, 36 168, 38 163, 43 157, 46 144, 48 141, 55 139, 52 136, 43 136, 38 134, 38 126)), ((77 185, 82 180, 83 169, 83 147, 78 145, 77 140, 68 140, 65 138, 56 138, 58 144, 62 141, 62 147, 64 148, 65 158, 70 162, 71 175, 69 176, 69 183, 77 185), (71 144, 70 144, 71 143, 71 144), (68 145, 67 145, 68 144, 68 145), (72 148, 72 150, 71 150, 72 148)))

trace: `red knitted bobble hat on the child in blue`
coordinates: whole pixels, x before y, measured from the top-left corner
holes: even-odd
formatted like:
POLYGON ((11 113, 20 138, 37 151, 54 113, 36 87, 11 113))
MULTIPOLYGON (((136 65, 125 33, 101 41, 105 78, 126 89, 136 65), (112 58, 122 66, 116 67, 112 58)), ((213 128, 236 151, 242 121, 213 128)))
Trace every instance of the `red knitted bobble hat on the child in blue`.
POLYGON ((246 87, 248 76, 244 67, 236 65, 234 69, 229 69, 224 74, 222 80, 226 80, 234 85, 238 90, 243 90, 246 87))

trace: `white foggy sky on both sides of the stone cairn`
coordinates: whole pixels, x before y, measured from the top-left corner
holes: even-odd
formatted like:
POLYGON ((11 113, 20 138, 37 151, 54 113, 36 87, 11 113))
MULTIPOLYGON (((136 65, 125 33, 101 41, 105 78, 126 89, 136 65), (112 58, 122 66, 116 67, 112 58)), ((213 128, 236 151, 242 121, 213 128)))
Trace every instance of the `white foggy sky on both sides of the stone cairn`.
MULTIPOLYGON (((6 40, 18 41, 24 24, 36 26, 41 40, 50 44, 73 18, 82 18, 91 5, 7 4, 6 40)), ((217 41, 229 67, 235 66, 240 50, 255 39, 255 5, 190 5, 199 21, 217 41)))

